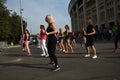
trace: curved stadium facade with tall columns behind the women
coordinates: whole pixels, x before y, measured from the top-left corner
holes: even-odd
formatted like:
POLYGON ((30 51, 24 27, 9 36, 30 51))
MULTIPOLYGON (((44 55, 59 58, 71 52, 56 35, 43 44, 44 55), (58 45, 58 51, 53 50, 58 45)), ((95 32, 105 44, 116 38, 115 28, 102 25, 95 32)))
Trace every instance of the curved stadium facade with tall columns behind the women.
POLYGON ((111 28, 120 18, 120 0, 71 0, 68 11, 73 31, 80 31, 89 18, 95 26, 111 28))

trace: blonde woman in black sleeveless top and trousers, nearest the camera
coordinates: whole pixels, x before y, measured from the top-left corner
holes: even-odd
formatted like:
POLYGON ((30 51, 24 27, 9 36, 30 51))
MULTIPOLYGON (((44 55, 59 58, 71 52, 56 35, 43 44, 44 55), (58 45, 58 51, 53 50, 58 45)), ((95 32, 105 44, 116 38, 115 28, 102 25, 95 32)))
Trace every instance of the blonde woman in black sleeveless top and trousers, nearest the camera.
POLYGON ((48 23, 46 34, 48 36, 48 54, 51 60, 49 64, 55 64, 52 70, 58 71, 60 70, 60 66, 58 65, 58 59, 55 55, 56 44, 57 44, 57 38, 56 38, 57 29, 56 29, 55 21, 53 16, 51 15, 47 15, 45 17, 45 20, 48 23))

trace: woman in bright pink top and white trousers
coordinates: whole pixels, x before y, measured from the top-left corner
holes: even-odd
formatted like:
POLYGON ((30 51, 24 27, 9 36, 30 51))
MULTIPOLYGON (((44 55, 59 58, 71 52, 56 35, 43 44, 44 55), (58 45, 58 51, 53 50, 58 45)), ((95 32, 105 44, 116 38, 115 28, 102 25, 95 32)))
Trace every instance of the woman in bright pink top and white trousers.
POLYGON ((46 47, 46 40, 47 40, 47 35, 45 31, 44 25, 40 25, 40 41, 41 41, 41 47, 42 47, 42 54, 41 56, 48 57, 48 50, 46 47))

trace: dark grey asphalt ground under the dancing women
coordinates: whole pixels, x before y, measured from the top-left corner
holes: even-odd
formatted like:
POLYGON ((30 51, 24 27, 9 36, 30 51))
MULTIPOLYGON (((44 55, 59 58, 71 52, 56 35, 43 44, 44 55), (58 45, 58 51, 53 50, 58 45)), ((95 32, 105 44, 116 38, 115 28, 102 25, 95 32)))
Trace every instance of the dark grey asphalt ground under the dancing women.
MULTIPOLYGON (((41 57, 41 49, 31 45, 31 56, 19 46, 0 52, 0 80, 120 80, 120 52, 114 54, 112 42, 96 42, 97 59, 84 58, 85 49, 77 44, 74 54, 56 51, 61 67, 53 72, 49 58, 41 57)), ((93 55, 91 55, 93 56, 93 55)))

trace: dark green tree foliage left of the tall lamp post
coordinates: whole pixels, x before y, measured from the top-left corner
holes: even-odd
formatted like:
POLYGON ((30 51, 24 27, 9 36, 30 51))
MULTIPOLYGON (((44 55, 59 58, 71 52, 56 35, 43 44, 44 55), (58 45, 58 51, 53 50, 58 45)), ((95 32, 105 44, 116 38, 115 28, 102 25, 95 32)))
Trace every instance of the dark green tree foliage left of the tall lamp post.
POLYGON ((16 12, 10 13, 4 3, 0 0, 0 41, 18 43, 21 35, 20 16, 16 12))

